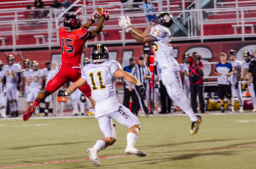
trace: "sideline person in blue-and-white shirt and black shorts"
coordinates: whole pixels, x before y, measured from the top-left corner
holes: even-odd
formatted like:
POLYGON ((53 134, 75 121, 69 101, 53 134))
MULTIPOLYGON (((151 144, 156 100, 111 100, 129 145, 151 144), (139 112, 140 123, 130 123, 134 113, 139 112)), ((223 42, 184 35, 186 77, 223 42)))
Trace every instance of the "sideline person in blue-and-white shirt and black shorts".
POLYGON ((227 54, 221 53, 220 62, 216 65, 215 72, 218 76, 218 99, 220 99, 221 112, 224 113, 224 97, 228 99, 229 109, 231 110, 231 85, 230 75, 233 74, 232 65, 227 62, 227 54))

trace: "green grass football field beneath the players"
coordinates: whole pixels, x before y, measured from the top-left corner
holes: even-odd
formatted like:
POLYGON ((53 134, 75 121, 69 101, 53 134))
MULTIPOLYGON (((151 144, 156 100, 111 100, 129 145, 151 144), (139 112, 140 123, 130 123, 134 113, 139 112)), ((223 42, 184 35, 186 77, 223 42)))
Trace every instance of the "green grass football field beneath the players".
MULTIPOLYGON (((203 115, 193 136, 185 115, 139 119, 137 148, 148 155, 124 155, 127 129, 117 124, 117 142, 99 154, 105 157, 101 168, 256 169, 256 114, 203 115)), ((2 119, 0 168, 95 168, 85 151, 98 138, 102 132, 95 118, 2 119)))

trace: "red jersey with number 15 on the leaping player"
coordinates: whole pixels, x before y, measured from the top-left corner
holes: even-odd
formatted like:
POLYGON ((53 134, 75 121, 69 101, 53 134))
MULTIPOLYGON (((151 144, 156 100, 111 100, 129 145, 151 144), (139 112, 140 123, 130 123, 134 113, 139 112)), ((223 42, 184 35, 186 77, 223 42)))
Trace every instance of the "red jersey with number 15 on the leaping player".
POLYGON ((61 61, 79 65, 84 43, 89 33, 86 28, 81 27, 74 31, 66 31, 61 27, 59 31, 61 44, 61 61))

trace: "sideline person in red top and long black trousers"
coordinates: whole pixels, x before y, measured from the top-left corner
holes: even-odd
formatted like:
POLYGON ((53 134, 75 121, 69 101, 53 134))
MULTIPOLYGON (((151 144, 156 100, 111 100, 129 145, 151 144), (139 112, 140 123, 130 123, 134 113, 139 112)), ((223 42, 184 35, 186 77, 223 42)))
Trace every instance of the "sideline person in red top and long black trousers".
POLYGON ((203 69, 204 65, 201 62, 201 56, 194 52, 192 57, 189 58, 189 84, 191 93, 191 107, 195 113, 198 113, 197 96, 199 98, 201 113, 205 113, 203 69))

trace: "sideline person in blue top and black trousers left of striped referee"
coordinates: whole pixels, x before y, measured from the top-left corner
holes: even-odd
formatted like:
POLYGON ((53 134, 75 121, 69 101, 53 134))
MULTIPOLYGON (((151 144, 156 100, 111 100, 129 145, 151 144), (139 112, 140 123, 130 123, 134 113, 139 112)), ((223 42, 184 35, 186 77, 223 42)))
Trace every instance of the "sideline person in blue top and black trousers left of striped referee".
MULTIPOLYGON (((126 65, 124 70, 126 72, 131 73, 131 70, 133 68, 133 66, 135 65, 135 60, 133 58, 129 59, 130 65, 126 65)), ((130 85, 130 82, 128 82, 127 80, 125 80, 125 93, 124 93, 124 105, 125 107, 129 108, 129 104, 130 104, 130 99, 131 97, 136 97, 135 93, 133 92, 133 89, 130 85)))

